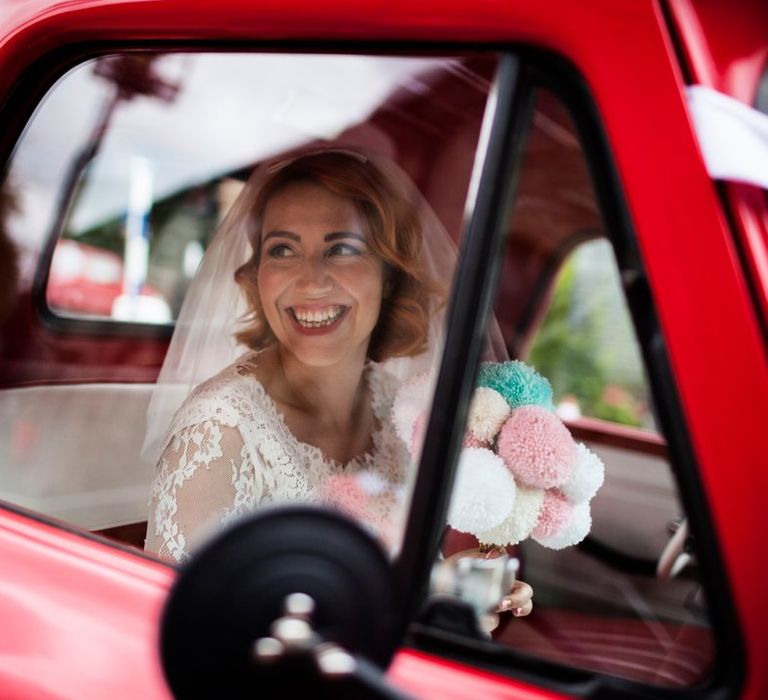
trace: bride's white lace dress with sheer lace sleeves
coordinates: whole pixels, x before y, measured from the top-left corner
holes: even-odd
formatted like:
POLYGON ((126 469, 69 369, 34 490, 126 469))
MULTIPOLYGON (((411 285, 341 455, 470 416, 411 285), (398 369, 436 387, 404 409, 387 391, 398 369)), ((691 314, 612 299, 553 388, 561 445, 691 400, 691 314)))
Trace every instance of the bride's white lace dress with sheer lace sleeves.
POLYGON ((248 366, 198 386, 174 416, 152 482, 145 548, 184 561, 201 541, 269 503, 322 503, 369 528, 394 552, 404 526, 410 458, 390 419, 396 380, 372 364, 373 448, 347 464, 300 442, 248 366))

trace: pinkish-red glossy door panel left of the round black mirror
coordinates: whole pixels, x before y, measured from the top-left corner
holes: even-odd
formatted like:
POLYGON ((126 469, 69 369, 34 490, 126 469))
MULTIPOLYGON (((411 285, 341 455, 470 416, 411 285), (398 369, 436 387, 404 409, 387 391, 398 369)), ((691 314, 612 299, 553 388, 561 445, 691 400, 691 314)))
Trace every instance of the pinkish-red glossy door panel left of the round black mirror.
POLYGON ((0 562, 0 697, 170 697, 157 635, 173 569, 8 511, 0 562))

